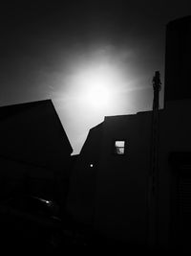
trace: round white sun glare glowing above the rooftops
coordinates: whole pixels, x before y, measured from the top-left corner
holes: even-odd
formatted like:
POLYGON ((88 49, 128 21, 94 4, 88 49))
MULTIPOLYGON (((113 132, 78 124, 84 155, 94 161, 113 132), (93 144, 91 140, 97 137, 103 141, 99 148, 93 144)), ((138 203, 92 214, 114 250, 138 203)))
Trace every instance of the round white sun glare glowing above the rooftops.
POLYGON ((120 113, 120 96, 127 87, 127 72, 121 61, 103 53, 79 57, 73 64, 65 83, 70 111, 77 112, 76 119, 93 127, 105 116, 120 113))

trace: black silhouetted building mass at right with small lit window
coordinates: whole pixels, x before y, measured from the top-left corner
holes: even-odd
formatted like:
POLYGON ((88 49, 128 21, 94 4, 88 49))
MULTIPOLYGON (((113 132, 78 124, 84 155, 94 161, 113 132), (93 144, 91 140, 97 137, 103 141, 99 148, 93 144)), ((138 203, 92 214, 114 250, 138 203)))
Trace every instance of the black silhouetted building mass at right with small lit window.
POLYGON ((154 110, 105 117, 74 166, 68 210, 107 237, 191 251, 190 28, 191 17, 167 25, 155 173, 154 110))

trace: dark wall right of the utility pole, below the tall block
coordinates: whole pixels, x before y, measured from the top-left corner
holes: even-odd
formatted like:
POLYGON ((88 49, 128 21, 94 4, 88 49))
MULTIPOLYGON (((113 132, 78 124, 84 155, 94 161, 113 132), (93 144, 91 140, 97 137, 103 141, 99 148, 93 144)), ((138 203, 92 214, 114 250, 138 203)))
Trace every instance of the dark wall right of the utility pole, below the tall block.
POLYGON ((159 241, 168 243, 172 219, 173 170, 170 152, 191 151, 191 101, 168 102, 160 115, 159 134, 159 241))

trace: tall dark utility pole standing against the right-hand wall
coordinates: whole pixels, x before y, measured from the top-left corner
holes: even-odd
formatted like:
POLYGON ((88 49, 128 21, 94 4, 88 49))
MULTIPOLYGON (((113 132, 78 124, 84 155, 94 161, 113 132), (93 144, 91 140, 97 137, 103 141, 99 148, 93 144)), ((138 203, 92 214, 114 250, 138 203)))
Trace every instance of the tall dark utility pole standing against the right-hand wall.
POLYGON ((158 244, 158 175, 159 175, 159 91, 161 81, 159 71, 153 77, 153 110, 151 121, 151 155, 148 188, 148 244, 156 248, 158 244))

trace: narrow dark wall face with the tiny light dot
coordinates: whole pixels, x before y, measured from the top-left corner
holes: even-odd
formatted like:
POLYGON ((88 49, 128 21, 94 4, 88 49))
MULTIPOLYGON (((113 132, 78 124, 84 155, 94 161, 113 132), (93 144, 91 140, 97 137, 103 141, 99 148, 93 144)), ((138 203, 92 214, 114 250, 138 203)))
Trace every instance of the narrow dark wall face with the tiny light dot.
POLYGON ((67 209, 78 221, 93 224, 95 218, 96 175, 102 141, 102 124, 89 131, 72 170, 67 209), (93 166, 91 166, 93 165, 93 166))

